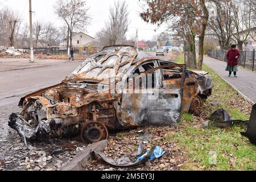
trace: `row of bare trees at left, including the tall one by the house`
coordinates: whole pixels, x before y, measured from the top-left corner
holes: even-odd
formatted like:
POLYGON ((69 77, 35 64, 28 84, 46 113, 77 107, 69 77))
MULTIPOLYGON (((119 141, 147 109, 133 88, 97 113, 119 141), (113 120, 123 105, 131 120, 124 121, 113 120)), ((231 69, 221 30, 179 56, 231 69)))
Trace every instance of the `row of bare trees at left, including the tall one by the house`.
MULTIPOLYGON (((51 21, 36 20, 32 24, 34 47, 59 46, 64 39, 72 47, 73 31, 84 31, 89 24, 89 8, 85 0, 57 0, 53 5, 55 13, 63 26, 56 26, 51 21)), ((3 7, 0 9, 0 46, 25 48, 30 47, 30 28, 20 14, 3 7)))

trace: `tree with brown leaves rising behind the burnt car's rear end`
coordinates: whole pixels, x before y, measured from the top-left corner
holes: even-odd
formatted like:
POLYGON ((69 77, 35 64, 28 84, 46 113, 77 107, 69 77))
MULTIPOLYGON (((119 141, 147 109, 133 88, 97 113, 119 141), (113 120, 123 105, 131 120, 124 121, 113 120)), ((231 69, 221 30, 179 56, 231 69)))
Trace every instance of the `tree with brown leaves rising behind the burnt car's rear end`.
MULTIPOLYGON (((196 45, 195 37, 199 35, 199 62, 203 62, 203 45, 205 29, 208 23, 208 9, 205 1, 202 0, 144 0, 146 8, 141 13, 141 17, 146 22, 153 24, 167 23, 168 31, 175 32, 180 40, 184 40, 185 63, 189 67, 196 68, 196 45)), ((201 69, 201 64, 198 69, 201 69)))

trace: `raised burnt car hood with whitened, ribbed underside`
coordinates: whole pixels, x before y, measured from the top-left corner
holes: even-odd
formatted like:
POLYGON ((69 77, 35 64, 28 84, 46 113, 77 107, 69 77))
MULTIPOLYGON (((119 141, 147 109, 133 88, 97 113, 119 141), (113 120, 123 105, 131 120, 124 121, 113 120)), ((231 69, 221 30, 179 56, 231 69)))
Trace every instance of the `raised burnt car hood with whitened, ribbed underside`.
POLYGON ((129 69, 138 53, 133 46, 108 46, 101 52, 88 57, 79 68, 68 77, 90 80, 118 80, 129 69))

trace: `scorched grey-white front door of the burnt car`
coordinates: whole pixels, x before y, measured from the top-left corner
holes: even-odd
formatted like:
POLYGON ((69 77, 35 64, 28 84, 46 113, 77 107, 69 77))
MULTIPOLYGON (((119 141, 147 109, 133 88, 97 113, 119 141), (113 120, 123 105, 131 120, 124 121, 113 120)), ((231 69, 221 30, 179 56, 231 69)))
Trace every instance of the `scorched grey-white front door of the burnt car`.
MULTIPOLYGON (((156 60, 139 65, 127 79, 122 96, 122 126, 170 126, 180 121, 183 89, 163 86, 162 69, 156 60)), ((184 66, 180 68, 184 73, 184 66)), ((181 79, 184 77, 181 75, 181 79)), ((183 87, 182 87, 183 88, 183 87)))

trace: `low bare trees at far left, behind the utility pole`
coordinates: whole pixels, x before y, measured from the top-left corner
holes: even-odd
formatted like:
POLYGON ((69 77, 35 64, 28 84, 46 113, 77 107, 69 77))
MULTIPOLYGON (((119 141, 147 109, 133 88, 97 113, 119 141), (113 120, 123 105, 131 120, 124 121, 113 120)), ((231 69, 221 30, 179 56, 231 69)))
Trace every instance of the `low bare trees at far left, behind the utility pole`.
MULTIPOLYGON (((37 20, 32 24, 34 47, 59 46, 66 34, 66 28, 53 22, 37 20)), ((26 48, 30 46, 30 28, 18 13, 9 7, 0 11, 0 46, 26 48)))

